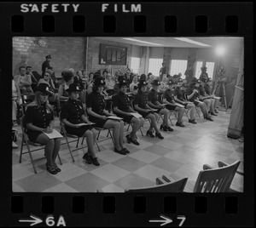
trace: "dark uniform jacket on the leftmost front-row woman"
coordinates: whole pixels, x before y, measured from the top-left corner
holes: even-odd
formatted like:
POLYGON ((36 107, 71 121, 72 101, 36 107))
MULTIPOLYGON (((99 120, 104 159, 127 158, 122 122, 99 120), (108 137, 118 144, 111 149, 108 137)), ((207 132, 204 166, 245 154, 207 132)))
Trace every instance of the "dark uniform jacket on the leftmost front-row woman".
MULTIPOLYGON (((38 108, 38 105, 28 105, 26 108, 25 122, 32 123, 32 125, 37 126, 38 128, 47 128, 49 123, 54 120, 53 111, 46 108, 46 103, 41 105, 38 108)), ((27 136, 32 142, 35 142, 39 134, 42 134, 41 131, 34 131, 31 129, 26 129, 27 136)))

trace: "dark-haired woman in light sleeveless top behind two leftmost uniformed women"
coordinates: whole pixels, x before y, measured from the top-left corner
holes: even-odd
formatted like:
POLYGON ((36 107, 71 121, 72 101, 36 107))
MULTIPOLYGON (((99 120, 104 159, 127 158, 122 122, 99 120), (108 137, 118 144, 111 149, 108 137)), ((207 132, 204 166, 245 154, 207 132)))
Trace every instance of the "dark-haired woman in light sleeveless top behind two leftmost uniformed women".
POLYGON ((63 72, 64 83, 62 83, 59 87, 59 100, 61 102, 61 106, 69 99, 69 94, 67 92, 67 88, 69 88, 70 84, 73 84, 73 72, 64 71, 63 72))

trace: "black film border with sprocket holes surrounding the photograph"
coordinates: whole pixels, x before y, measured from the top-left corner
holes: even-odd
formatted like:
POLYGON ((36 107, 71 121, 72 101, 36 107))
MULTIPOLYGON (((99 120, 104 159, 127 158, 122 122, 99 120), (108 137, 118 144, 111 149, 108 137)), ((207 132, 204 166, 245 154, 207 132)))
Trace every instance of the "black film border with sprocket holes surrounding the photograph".
MULTIPOLYGON (((40 3, 37 3, 40 4, 40 3)), ((121 35, 123 37, 200 37, 200 36, 239 36, 244 37, 244 54, 245 54, 245 63, 244 71, 248 75, 253 75, 253 4, 252 3, 185 3, 189 7, 187 14, 183 14, 183 6, 180 3, 158 3, 157 6, 155 3, 144 3, 142 2, 142 12, 147 16, 147 23, 150 25, 145 33, 135 33, 132 31, 131 21, 134 14, 124 14, 123 12, 113 13, 116 16, 117 25, 116 31, 111 34, 106 34, 102 28, 102 20, 97 20, 98 18, 105 15, 100 11, 102 3, 79 3, 80 6, 84 5, 83 13, 86 15, 86 26, 84 34, 73 33, 72 31, 72 16, 74 14, 67 13, 47 13, 55 16, 55 31, 51 33, 43 33, 41 31, 41 16, 42 13, 38 14, 22 14, 24 15, 25 21, 25 31, 19 33, 13 33, 10 30, 10 16, 14 14, 20 14, 20 3, 1 3, 0 9, 0 21, 1 22, 1 31, 5 36, 0 37, 1 46, 3 45, 4 59, 1 58, 1 67, 2 75, 0 83, 1 86, 1 99, 2 104, 6 105, 8 109, 5 109, 1 113, 1 117, 9 119, 9 122, 4 124, 4 128, 9 129, 11 126, 11 105, 7 100, 3 100, 3 92, 6 91, 6 88, 2 88, 2 84, 5 84, 10 88, 9 80, 6 80, 4 75, 11 75, 11 63, 12 63, 12 37, 79 37, 84 35, 84 37, 110 37, 121 35), (85 7, 86 4, 86 7, 85 7), (154 7, 152 7, 154 5, 154 7), (222 7, 222 8, 221 8, 222 7), (228 8, 227 8, 228 7, 228 8), (90 14, 91 9, 98 11, 97 14, 90 14), (158 11, 160 9, 161 11, 158 11), (216 11, 215 11, 216 9, 216 11), (166 33, 164 29, 160 29, 160 24, 163 21, 163 16, 157 15, 154 13, 162 12, 162 14, 175 14, 177 15, 177 32, 176 33, 166 33), (216 12, 218 11, 218 14, 216 12), (194 21, 191 19, 195 18, 196 15, 207 14, 208 18, 208 27, 211 27, 211 30, 202 33, 195 33, 194 30, 194 21), (238 29, 236 33, 227 33, 225 31, 225 26, 221 23, 224 22, 224 17, 226 15, 237 15, 238 29), (65 17, 63 17, 65 15, 65 17), (154 16, 151 16, 154 15, 154 16), (95 19, 95 20, 92 20, 95 19), (122 20, 125 19, 125 20, 122 20), (125 25, 119 26, 119 20, 122 21, 125 25), (96 24, 90 23, 90 21, 96 22, 96 24), (220 23, 221 25, 219 25, 220 23), (65 26, 67 25, 67 26, 65 26), (211 26, 210 26, 211 25, 211 26)), ((111 4, 111 3, 110 3, 111 4)), ((129 4, 129 3, 127 3, 129 4)), ((80 12, 81 13, 81 12, 80 12)), ((170 218, 177 217, 177 214, 185 215, 186 222, 184 225, 228 225, 228 226, 246 226, 253 224, 253 154, 247 154, 246 151, 253 151, 253 111, 250 111, 249 105, 253 101, 253 97, 250 97, 249 94, 250 88, 253 85, 253 77, 247 77, 245 80, 245 86, 248 88, 245 90, 245 97, 248 100, 245 100, 245 126, 247 126, 245 131, 246 143, 244 145, 244 155, 245 155, 245 167, 244 167, 244 192, 243 193, 229 193, 229 194, 216 194, 216 195, 205 195, 205 194, 186 194, 186 193, 172 193, 172 194, 139 194, 140 196, 147 197, 147 207, 146 214, 134 214, 132 212, 133 197, 137 194, 118 194, 118 193, 16 193, 12 192, 12 170, 9 166, 9 162, 12 164, 11 153, 7 154, 7 160, 9 162, 1 162, 0 166, 0 175, 3 180, 8 180, 7 185, 3 185, 1 189, 1 216, 0 225, 20 225, 20 217, 28 217, 29 214, 36 214, 41 218, 46 218, 49 214, 43 214, 40 208, 41 198, 45 196, 53 196, 55 200, 55 218, 60 218, 60 215, 63 215, 66 219, 67 225, 154 225, 149 224, 148 219, 157 219, 159 214, 164 214, 163 204, 160 205, 159 202, 163 202, 163 198, 166 196, 173 196, 177 199, 177 213, 168 214, 170 218), (250 119, 252 121, 250 121, 250 119), (251 128, 250 128, 251 126, 251 128), (8 173, 6 172, 8 170, 8 173), (7 173, 7 174, 6 174, 7 173), (23 214, 11 214, 10 212, 10 202, 11 197, 21 196, 23 197, 24 202, 24 211, 23 214), (84 214, 73 214, 72 212, 72 199, 73 196, 82 196, 85 198, 85 212, 84 214), (115 198, 115 214, 103 214, 102 213, 102 201, 105 196, 114 196, 115 198), (164 196, 164 197, 163 197, 164 196), (207 205, 210 206, 207 214, 195 214, 195 197, 207 197, 207 205), (224 211, 224 202, 226 197, 237 197, 238 199, 238 213, 234 214, 225 214, 224 211), (123 203, 125 200, 126 203, 123 203), (222 203, 220 203, 221 201, 222 203), (60 203, 62 202, 62 203, 60 203), (219 205, 219 203, 221 205, 219 205), (96 208, 91 208, 90 205, 95 205, 96 208), (125 205, 126 204, 126 205, 125 205), (63 206, 70 205, 65 208, 65 212, 62 211, 63 206), (182 206, 182 208, 180 208, 182 206), (128 211, 127 211, 128 208, 128 211), (130 214, 131 213, 131 214, 130 214), (101 215, 101 220, 97 219, 101 215), (128 215, 127 215, 128 214, 128 215), (242 219, 241 219, 242 218, 242 219), (97 221, 98 223, 95 223, 97 221), (209 224, 210 223, 210 224, 209 224)), ((10 133, 1 132, 1 140, 4 139, 4 148, 7 151, 11 151, 10 147, 10 133), (6 140, 5 140, 6 139, 6 140)), ((173 225, 178 225, 177 223, 173 225)))

